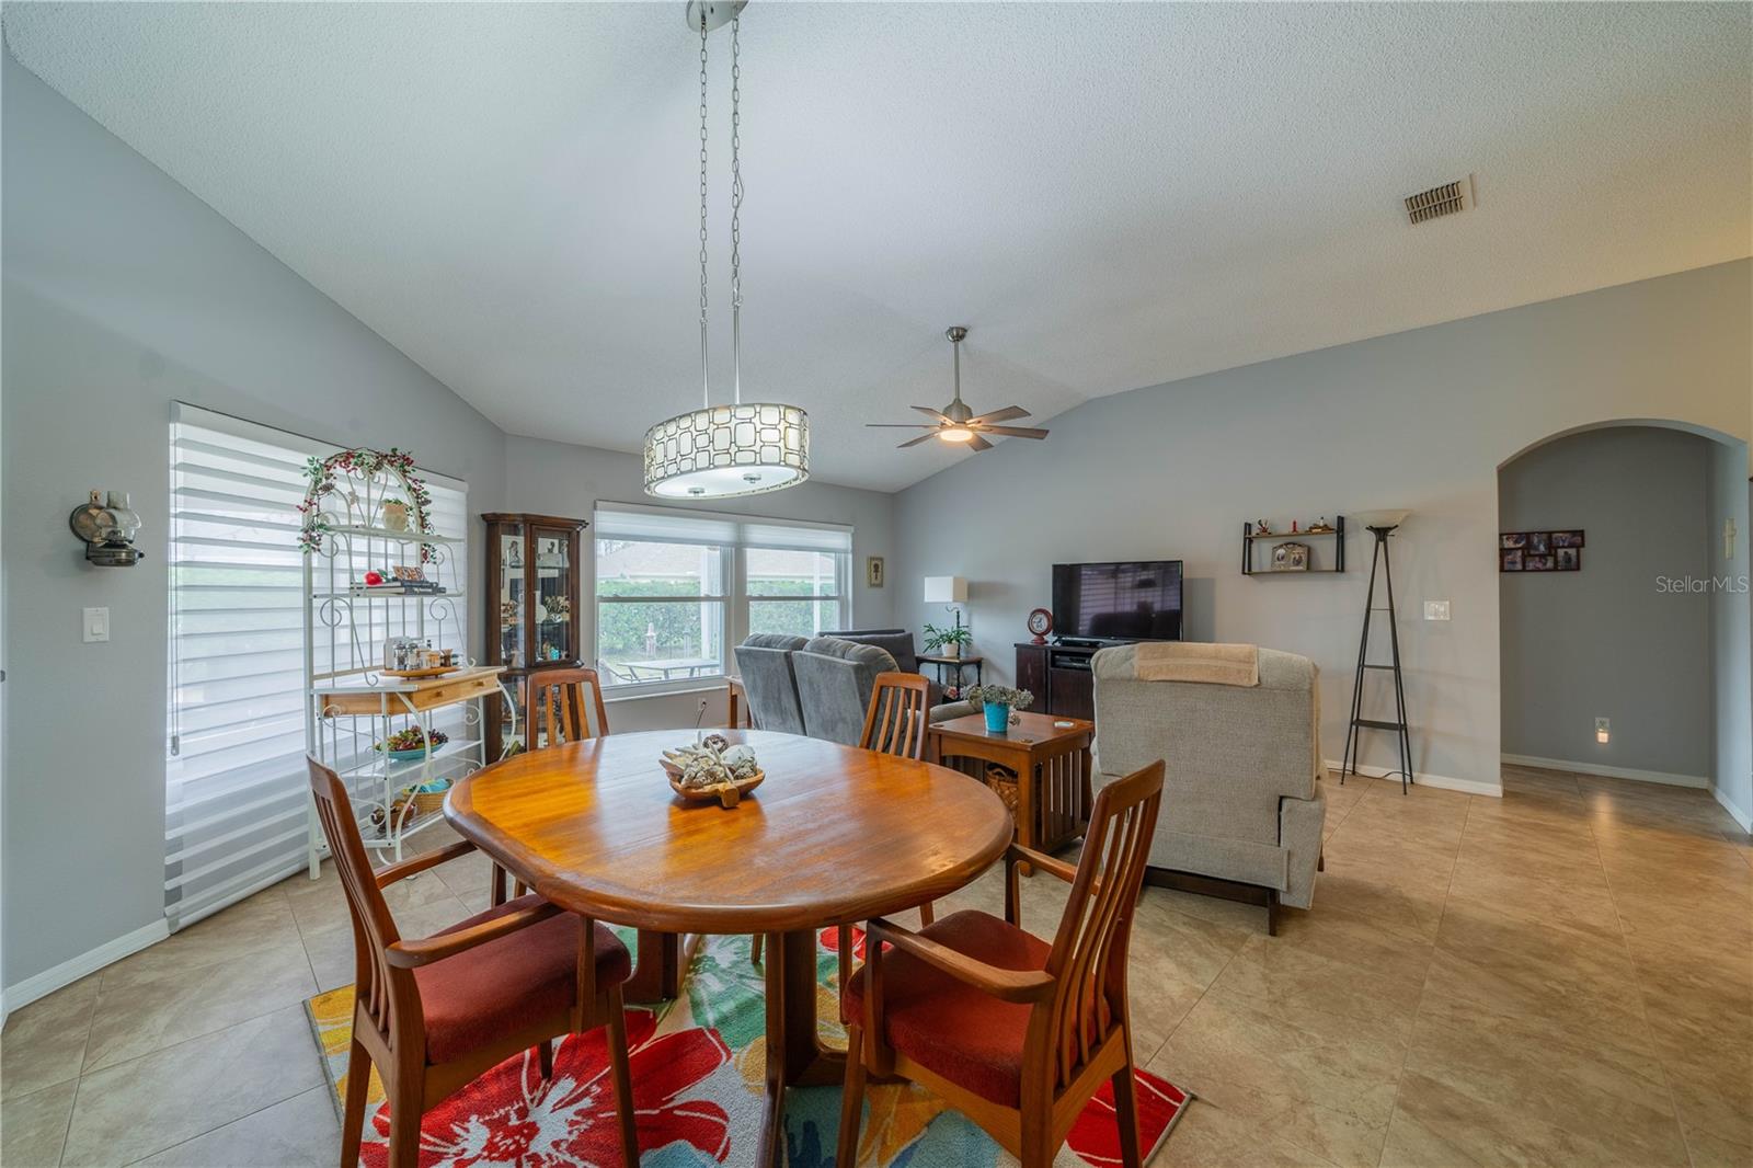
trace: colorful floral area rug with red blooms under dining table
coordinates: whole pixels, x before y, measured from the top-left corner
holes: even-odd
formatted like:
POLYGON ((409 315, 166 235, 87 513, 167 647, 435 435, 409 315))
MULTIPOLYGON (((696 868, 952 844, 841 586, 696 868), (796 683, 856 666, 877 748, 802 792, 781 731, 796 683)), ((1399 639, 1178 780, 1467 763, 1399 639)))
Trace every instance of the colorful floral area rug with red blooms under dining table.
MULTIPOLYGON (((862 944, 862 937, 859 937, 862 944)), ((834 929, 817 949, 820 1033, 845 1045, 836 1021, 834 929)), ((345 1098, 352 1038, 352 987, 307 1003, 323 1049, 337 1110, 345 1098)), ((633 1100, 643 1168, 752 1164, 761 1140, 766 1014, 761 970, 749 961, 747 937, 708 938, 687 975, 687 994, 657 1008, 628 1010, 633 1100)), ((389 1108, 372 1072, 359 1163, 382 1168, 389 1152, 389 1108)), ((1139 1072, 1141 1145, 1162 1147, 1190 1096, 1139 1072)), ((840 1128, 840 1087, 799 1087, 785 1096, 791 1168, 829 1168, 840 1128)), ((533 1052, 514 1056, 426 1114, 421 1168, 563 1168, 621 1163, 615 1103, 608 1077, 607 1031, 568 1036, 542 1082, 533 1052)), ((980 1128, 913 1086, 866 1091, 861 1168, 1013 1168, 1015 1159, 980 1128)), ((1120 1163, 1113 1098, 1104 1084, 1083 1108, 1055 1168, 1120 1163)))

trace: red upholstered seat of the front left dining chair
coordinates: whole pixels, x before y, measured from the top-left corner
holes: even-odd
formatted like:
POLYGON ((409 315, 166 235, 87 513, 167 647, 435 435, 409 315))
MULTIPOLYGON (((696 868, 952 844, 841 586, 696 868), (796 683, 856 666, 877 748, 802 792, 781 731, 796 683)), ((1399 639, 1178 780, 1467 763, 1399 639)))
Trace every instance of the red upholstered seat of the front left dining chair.
MULTIPOLYGON (((540 896, 519 896, 477 912, 444 933, 540 903, 540 896)), ((598 924, 598 989, 619 986, 631 973, 628 947, 607 926, 598 924)), ((454 958, 417 966, 414 979, 426 1010, 426 1058, 449 1063, 571 1007, 578 989, 578 917, 563 912, 454 958)))

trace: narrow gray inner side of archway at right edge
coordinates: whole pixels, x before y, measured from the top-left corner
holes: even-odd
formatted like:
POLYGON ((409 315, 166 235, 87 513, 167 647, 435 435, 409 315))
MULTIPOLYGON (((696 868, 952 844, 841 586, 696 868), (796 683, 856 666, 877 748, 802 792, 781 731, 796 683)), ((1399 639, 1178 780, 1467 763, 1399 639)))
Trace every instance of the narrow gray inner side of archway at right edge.
POLYGON ((1753 484, 1746 451, 1711 447, 1711 668, 1714 672, 1714 742, 1711 775, 1716 798, 1753 830, 1753 596, 1748 595, 1753 544, 1753 484), (1723 523, 1734 521, 1734 556, 1723 556, 1723 523))

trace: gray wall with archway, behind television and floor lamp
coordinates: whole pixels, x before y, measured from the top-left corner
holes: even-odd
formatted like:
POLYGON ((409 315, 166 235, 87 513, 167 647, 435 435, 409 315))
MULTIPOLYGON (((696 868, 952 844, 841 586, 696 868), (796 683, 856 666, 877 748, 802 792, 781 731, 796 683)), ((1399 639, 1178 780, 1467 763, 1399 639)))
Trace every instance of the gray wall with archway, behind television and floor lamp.
POLYGON ((1749 275, 1727 263, 1089 402, 1047 442, 1004 442, 901 493, 896 614, 938 619, 920 577, 968 577, 975 642, 1010 675, 1054 561, 1180 558, 1192 637, 1320 665, 1338 758, 1369 549, 1353 538, 1339 577, 1245 579, 1241 524, 1411 507, 1394 551, 1416 768, 1495 787, 1497 466, 1611 419, 1746 440, 1749 275), (1423 600, 1450 600, 1453 619, 1422 621, 1423 600))

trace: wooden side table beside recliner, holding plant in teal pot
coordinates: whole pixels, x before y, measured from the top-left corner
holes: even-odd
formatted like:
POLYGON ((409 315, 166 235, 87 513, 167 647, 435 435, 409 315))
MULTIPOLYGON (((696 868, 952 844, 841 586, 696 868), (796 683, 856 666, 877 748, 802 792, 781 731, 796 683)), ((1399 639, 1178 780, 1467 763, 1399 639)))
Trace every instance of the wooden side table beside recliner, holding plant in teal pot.
POLYGON ((1015 772, 1017 842, 1050 852, 1089 826, 1096 723, 1029 712, 1015 717, 1001 735, 987 733, 983 714, 938 723, 926 735, 926 761, 978 759, 1015 772))

